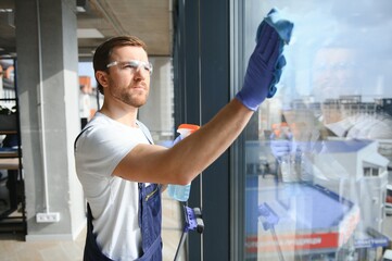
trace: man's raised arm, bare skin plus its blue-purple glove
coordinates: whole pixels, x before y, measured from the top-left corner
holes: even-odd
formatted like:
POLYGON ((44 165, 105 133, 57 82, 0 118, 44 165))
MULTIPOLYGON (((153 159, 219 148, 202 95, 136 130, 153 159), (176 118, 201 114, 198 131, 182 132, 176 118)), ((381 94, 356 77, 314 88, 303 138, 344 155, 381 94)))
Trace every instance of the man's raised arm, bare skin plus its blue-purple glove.
MULTIPOLYGON (((290 30, 292 24, 289 24, 290 30)), ((266 20, 260 25, 257 45, 249 60, 242 89, 207 124, 170 149, 138 145, 117 165, 115 175, 135 182, 190 183, 240 135, 258 105, 275 95, 286 61, 287 42, 266 20)))

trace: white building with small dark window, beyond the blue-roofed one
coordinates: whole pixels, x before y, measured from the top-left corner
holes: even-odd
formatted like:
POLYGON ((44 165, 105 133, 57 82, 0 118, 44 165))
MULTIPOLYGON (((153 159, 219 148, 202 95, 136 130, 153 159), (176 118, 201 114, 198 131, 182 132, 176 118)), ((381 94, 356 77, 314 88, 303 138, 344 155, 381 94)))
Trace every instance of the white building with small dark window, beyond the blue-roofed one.
POLYGON ((357 203, 363 226, 382 229, 388 183, 388 159, 378 153, 378 142, 330 140, 325 152, 313 154, 314 183, 357 203))

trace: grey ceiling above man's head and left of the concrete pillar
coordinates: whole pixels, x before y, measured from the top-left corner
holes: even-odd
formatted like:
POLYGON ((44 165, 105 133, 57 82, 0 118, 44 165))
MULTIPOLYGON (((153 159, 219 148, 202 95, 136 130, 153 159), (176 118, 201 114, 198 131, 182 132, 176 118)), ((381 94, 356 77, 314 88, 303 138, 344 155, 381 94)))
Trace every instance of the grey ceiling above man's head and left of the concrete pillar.
MULTIPOLYGON (((14 1, 0 0, 0 55, 15 52, 14 1)), ((75 1, 87 10, 75 11, 78 29, 97 29, 104 37, 78 38, 79 57, 91 55, 105 38, 123 34, 141 38, 150 55, 172 54, 172 0, 75 1)))

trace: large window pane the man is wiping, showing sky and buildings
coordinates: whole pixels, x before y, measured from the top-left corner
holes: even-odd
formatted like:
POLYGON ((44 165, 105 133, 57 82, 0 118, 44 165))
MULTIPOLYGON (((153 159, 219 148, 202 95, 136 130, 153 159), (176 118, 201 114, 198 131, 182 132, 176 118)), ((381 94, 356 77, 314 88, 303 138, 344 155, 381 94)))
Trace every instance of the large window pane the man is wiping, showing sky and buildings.
POLYGON ((243 259, 379 260, 392 236, 392 1, 243 4, 246 63, 271 8, 295 24, 278 91, 246 129, 243 259))

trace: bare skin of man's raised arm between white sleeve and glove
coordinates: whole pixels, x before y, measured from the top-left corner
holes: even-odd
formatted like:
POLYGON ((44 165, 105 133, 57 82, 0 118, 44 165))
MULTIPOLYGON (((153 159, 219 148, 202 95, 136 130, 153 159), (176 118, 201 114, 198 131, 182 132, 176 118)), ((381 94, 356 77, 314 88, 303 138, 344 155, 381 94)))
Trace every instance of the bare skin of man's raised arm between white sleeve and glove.
POLYGON ((114 174, 137 182, 188 184, 232 144, 252 114, 253 111, 233 99, 207 124, 170 149, 136 146, 114 174))

